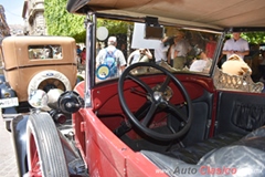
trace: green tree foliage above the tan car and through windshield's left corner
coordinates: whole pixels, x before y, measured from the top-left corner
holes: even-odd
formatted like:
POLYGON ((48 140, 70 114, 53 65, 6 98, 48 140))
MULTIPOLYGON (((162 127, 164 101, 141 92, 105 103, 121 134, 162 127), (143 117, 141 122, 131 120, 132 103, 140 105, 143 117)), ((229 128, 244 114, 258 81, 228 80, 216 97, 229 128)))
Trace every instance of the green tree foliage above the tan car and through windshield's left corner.
MULTIPOLYGON (((73 37, 76 42, 85 42, 86 29, 84 25, 85 15, 73 14, 66 11, 67 0, 44 1, 44 18, 47 33, 50 35, 73 37)), ((99 19, 97 27, 106 27, 109 34, 127 32, 129 23, 99 19)))

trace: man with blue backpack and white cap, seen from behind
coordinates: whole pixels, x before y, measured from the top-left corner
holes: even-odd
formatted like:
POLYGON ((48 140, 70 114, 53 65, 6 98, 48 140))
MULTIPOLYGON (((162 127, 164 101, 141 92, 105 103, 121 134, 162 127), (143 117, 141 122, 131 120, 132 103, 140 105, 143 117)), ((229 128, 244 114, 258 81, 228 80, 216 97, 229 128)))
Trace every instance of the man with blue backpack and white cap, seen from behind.
POLYGON ((112 76, 118 76, 125 70, 126 65, 124 53, 117 49, 116 45, 117 38, 109 37, 107 48, 102 49, 96 56, 96 67, 100 64, 109 64, 110 59, 113 59, 109 65, 115 65, 117 70, 115 70, 116 73, 114 73, 112 76))

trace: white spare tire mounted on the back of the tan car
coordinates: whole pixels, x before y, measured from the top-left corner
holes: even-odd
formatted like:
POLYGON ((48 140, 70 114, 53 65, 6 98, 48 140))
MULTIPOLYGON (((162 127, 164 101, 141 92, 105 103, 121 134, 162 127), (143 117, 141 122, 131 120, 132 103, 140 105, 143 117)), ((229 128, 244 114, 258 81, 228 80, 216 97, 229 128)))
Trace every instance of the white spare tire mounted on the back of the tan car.
POLYGON ((36 75, 34 75, 28 86, 28 95, 30 95, 30 93, 32 91, 35 91, 39 88, 39 85, 49 79, 55 79, 60 82, 62 82, 64 84, 65 91, 71 91, 72 86, 71 86, 71 82, 70 80, 62 74, 61 72, 57 71, 53 71, 53 70, 46 70, 46 71, 42 71, 40 73, 38 73, 36 75))

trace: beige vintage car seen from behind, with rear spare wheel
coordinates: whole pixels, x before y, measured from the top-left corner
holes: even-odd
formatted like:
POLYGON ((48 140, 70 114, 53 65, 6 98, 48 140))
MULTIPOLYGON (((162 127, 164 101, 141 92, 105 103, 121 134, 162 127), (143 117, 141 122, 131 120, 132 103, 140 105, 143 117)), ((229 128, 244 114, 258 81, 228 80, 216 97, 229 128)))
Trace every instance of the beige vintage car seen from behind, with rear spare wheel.
POLYGON ((77 74, 75 45, 68 37, 4 38, 0 48, 2 116, 10 119, 29 112, 28 98, 35 90, 71 91, 77 74))

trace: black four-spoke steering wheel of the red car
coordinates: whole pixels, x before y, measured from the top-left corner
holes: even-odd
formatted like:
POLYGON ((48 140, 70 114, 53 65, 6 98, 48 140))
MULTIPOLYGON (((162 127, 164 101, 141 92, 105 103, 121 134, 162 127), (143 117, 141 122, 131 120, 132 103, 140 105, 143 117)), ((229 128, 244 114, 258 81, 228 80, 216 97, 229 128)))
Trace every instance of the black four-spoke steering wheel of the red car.
MULTIPOLYGON (((132 88, 134 90, 134 88, 132 88)), ((148 62, 140 62, 140 63, 135 63, 129 65, 121 74, 118 81, 118 95, 119 95, 119 101, 121 104, 121 107, 125 111, 125 114, 128 116, 128 119, 137 127, 139 128, 142 133, 145 133, 147 136, 157 139, 157 140, 173 140, 182 135, 184 135, 192 122, 193 117, 193 108, 191 105, 191 100, 189 94, 187 93, 184 86, 180 83, 180 81, 167 69, 161 67, 157 65, 156 63, 148 63, 148 62), (165 74, 166 80, 163 83, 159 84, 159 86, 150 87, 148 84, 146 84, 142 80, 140 80, 139 76, 131 74, 131 72, 137 67, 148 67, 151 70, 156 70, 158 73, 165 74), (128 108, 128 105, 125 101, 125 95, 124 95, 124 84, 125 80, 131 80, 136 82, 139 86, 141 86, 146 92, 141 93, 145 94, 147 97, 147 103, 145 105, 148 105, 148 108, 146 110, 146 114, 144 118, 137 118, 135 114, 131 113, 131 111, 128 108), (172 92, 170 95, 171 88, 169 87, 169 83, 172 82, 180 91, 182 96, 186 100, 186 105, 187 105, 187 113, 183 113, 180 111, 180 108, 172 104, 170 102, 170 98, 172 96, 172 92), (149 128, 148 125, 153 118, 153 115, 158 113, 161 107, 168 108, 173 115, 178 116, 183 125, 182 128, 178 132, 172 131, 170 134, 163 134, 163 133, 158 133, 155 132, 153 129, 149 128)))

